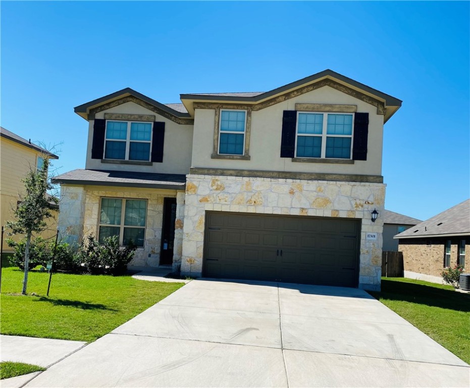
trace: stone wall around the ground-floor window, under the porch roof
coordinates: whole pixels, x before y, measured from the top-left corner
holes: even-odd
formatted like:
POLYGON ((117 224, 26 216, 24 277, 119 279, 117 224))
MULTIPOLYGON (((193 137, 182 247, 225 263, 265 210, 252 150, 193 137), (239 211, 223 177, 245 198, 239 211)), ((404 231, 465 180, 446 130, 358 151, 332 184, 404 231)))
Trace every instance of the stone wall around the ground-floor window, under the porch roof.
POLYGON ((138 248, 132 266, 158 267, 162 238, 164 198, 176 197, 174 190, 117 188, 90 190, 80 186, 62 186, 61 213, 59 228, 61 235, 67 235, 70 242, 79 241, 90 233, 97 235, 99 207, 101 197, 145 199, 147 203, 147 219, 145 243, 138 248), (125 191, 122 191, 125 190, 125 191))

